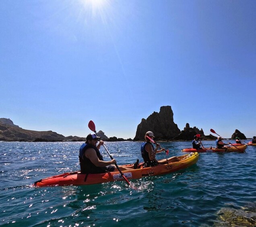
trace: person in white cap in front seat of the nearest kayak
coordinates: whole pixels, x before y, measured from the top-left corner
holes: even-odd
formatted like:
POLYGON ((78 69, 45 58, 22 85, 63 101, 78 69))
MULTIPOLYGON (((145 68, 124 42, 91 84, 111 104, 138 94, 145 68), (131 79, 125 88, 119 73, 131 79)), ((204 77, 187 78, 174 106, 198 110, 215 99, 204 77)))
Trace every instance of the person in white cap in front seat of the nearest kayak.
POLYGON ((153 144, 147 138, 147 136, 151 137, 151 139, 154 139, 154 134, 153 134, 153 132, 148 131, 145 135, 146 142, 142 143, 142 145, 140 147, 141 156, 145 162, 145 166, 147 166, 147 167, 157 166, 157 165, 167 164, 167 163, 171 163, 171 162, 179 162, 180 160, 182 160, 182 159, 174 156, 174 157, 170 157, 166 160, 158 161, 155 158, 155 155, 156 155, 156 153, 163 151, 163 149, 159 150, 160 145, 158 143, 156 144, 156 148, 154 148, 153 144))

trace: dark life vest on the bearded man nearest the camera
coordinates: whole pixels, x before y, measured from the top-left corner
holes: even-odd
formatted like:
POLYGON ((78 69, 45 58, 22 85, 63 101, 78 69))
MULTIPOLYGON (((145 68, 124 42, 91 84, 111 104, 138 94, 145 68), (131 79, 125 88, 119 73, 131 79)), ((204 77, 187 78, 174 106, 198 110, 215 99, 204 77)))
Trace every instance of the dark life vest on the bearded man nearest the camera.
POLYGON ((80 168, 81 168, 81 173, 82 174, 99 174, 99 173, 105 173, 106 167, 97 167, 95 166, 89 158, 85 157, 84 153, 88 148, 93 148, 96 151, 97 157, 99 160, 103 161, 103 157, 97 147, 88 144, 88 143, 83 143, 82 146, 79 149, 79 163, 80 163, 80 168))

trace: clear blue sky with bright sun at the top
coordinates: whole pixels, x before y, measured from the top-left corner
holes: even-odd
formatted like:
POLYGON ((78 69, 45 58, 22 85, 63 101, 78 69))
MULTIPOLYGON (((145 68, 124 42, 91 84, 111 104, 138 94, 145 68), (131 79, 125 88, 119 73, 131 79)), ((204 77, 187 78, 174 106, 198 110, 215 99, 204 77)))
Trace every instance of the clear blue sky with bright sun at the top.
MULTIPOLYGON (((256 135, 255 0, 1 0, 0 117, 134 138, 171 106, 180 130, 256 135)), ((212 133, 211 133, 212 134, 212 133)))

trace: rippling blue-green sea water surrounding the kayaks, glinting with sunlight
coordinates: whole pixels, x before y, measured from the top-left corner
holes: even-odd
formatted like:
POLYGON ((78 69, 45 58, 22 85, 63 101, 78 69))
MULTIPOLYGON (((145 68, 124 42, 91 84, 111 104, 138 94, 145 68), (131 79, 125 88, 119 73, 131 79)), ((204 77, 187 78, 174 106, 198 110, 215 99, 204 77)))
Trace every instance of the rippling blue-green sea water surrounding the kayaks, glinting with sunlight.
MULTIPOLYGON (((248 142, 248 141, 247 141, 248 142)), ((204 146, 215 146, 204 141, 204 146)), ((256 146, 245 153, 200 153, 186 170, 89 186, 31 186, 79 170, 81 142, 0 143, 0 226, 255 226, 256 146)), ((105 143, 118 164, 134 163, 139 142, 105 143)), ((168 157, 191 142, 165 142, 168 157)), ((109 156, 101 148, 104 160, 109 156)), ((166 158, 165 152, 157 158, 166 158)))

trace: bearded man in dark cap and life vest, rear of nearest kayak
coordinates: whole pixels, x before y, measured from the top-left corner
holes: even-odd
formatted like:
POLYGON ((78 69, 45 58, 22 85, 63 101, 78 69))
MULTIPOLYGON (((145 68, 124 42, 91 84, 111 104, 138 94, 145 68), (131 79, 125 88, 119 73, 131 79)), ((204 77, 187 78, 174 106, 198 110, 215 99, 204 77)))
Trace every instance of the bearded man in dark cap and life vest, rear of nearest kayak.
MULTIPOLYGON (((95 133, 87 135, 86 142, 79 149, 79 163, 81 167, 82 174, 99 174, 105 172, 116 172, 118 169, 112 164, 116 164, 116 160, 104 161, 99 149, 103 145, 103 141, 98 140, 101 137, 98 137, 95 133)), ((129 170, 134 168, 134 165, 124 168, 119 166, 121 171, 129 170)))

